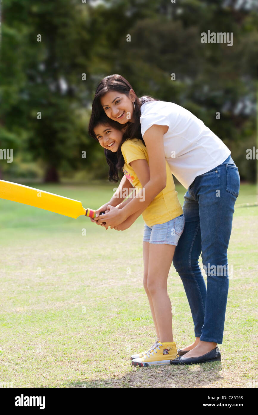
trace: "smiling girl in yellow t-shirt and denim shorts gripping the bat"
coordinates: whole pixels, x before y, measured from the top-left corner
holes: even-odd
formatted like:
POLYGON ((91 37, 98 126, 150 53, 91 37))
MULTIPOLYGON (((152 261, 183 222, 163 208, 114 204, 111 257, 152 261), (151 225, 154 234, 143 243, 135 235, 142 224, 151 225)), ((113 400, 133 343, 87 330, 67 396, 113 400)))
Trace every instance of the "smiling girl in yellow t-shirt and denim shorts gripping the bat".
MULTIPOLYGON (((123 138, 119 124, 102 115, 90 125, 89 133, 104 147, 109 164, 109 180, 118 181, 118 170, 124 173, 123 188, 140 190, 149 181, 149 158, 142 139, 123 138)), ((157 340, 146 352, 131 356, 133 365, 170 364, 176 358, 176 343, 172 333, 171 302, 167 293, 167 278, 174 251, 184 227, 184 215, 178 201, 173 176, 165 163, 166 185, 142 213, 143 285, 148 296, 157 340)), ((125 193, 123 193, 125 195, 125 193)), ((118 198, 118 190, 109 205, 123 209, 131 200, 118 198), (121 203, 120 203, 121 202, 121 203)), ((141 194, 144 200, 144 194, 141 194)))

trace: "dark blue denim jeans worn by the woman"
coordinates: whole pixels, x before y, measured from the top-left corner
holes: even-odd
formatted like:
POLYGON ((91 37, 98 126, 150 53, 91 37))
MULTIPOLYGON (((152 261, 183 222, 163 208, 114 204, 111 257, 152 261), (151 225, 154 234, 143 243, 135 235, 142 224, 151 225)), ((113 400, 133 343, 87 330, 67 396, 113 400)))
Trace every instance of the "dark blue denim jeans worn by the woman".
POLYGON ((229 288, 227 248, 239 187, 238 168, 229 156, 197 176, 184 195, 185 227, 173 264, 186 291, 195 337, 204 342, 222 344, 229 288), (207 290, 198 264, 200 253, 207 290))

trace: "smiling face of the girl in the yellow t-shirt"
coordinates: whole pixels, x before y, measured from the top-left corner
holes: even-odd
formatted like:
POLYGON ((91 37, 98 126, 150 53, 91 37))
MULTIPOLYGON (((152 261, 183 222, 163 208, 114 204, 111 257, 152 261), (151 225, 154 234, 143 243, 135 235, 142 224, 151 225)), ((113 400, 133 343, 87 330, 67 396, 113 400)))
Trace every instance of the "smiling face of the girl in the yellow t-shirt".
POLYGON ((121 144, 123 138, 123 131, 115 129, 110 125, 97 125, 94 128, 96 138, 99 140, 99 144, 115 153, 121 144))

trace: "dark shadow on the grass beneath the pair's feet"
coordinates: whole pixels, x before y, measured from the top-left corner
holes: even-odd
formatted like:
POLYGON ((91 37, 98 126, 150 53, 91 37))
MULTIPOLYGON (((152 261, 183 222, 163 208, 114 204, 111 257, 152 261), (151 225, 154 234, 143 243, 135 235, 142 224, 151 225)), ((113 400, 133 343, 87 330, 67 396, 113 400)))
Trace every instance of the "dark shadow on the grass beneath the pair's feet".
POLYGON ((72 382, 70 388, 209 388, 220 386, 220 361, 191 366, 132 368, 124 376, 72 382))

